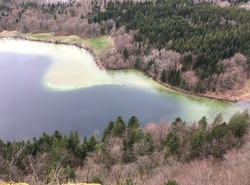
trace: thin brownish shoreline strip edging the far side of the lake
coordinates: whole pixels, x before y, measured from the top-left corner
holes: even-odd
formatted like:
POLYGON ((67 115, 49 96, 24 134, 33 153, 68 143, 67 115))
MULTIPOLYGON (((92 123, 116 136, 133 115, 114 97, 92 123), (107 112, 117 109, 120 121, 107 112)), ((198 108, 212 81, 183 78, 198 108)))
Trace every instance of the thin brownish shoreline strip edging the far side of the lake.
MULTIPOLYGON (((66 36, 67 37, 67 36, 66 36)), ((117 71, 117 69, 113 70, 113 69, 107 69, 105 68, 102 64, 101 61, 99 60, 99 57, 97 55, 97 52, 91 48, 90 46, 86 46, 86 45, 82 45, 81 43, 78 42, 63 42, 60 40, 56 40, 56 39, 37 39, 37 38, 32 38, 26 35, 23 35, 23 33, 19 33, 16 31, 3 31, 2 33, 0 33, 0 38, 6 38, 6 39, 17 39, 17 40, 27 40, 27 41, 34 41, 34 42, 42 42, 42 43, 51 43, 51 44, 58 44, 58 45, 69 45, 69 46, 75 46, 79 49, 85 49, 86 51, 90 52, 91 55, 93 56, 94 62, 97 65, 97 67, 100 70, 105 70, 105 71, 117 71), (6 32, 6 33, 4 33, 6 32)), ((127 69, 127 68, 126 68, 127 69)), ((118 69, 118 70, 126 70, 124 68, 118 69)), ((134 69, 134 68, 131 68, 134 69)), ((142 71, 143 72, 143 71, 142 71)), ((152 78, 152 76, 148 73, 143 72, 145 75, 149 76, 150 78, 152 78)), ((152 78, 153 79, 153 78, 152 78)), ((247 101, 249 102, 249 100, 247 98, 237 98, 235 96, 230 96, 230 95, 222 95, 222 94, 215 94, 215 93, 206 93, 206 94, 200 94, 200 93, 194 93, 194 92, 189 92, 189 91, 185 91, 183 89, 180 89, 178 87, 174 87, 171 86, 169 84, 163 83, 158 79, 153 79, 154 81, 156 81, 157 83, 161 84, 162 86, 184 93, 184 94, 189 94, 189 95, 194 95, 194 96, 199 96, 199 97, 204 97, 204 98, 209 98, 209 99, 215 99, 215 100, 220 100, 220 101, 229 101, 229 102, 237 102, 237 101, 247 101)))

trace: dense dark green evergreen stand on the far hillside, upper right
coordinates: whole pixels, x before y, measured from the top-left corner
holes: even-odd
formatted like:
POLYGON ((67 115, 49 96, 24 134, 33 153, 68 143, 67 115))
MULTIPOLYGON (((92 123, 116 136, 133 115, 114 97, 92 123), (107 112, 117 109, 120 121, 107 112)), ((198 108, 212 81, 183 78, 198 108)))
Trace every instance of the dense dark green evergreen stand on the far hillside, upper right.
POLYGON ((241 52, 247 56, 250 16, 246 10, 220 8, 191 1, 158 1, 133 3, 109 2, 105 12, 91 19, 95 22, 112 19, 117 27, 139 30, 136 42, 159 50, 173 41, 175 51, 192 51, 198 56, 195 68, 212 71, 213 61, 230 58, 241 52), (207 62, 208 61, 208 62, 207 62), (206 66, 207 65, 207 66, 206 66), (211 69, 210 69, 211 68, 211 69))

